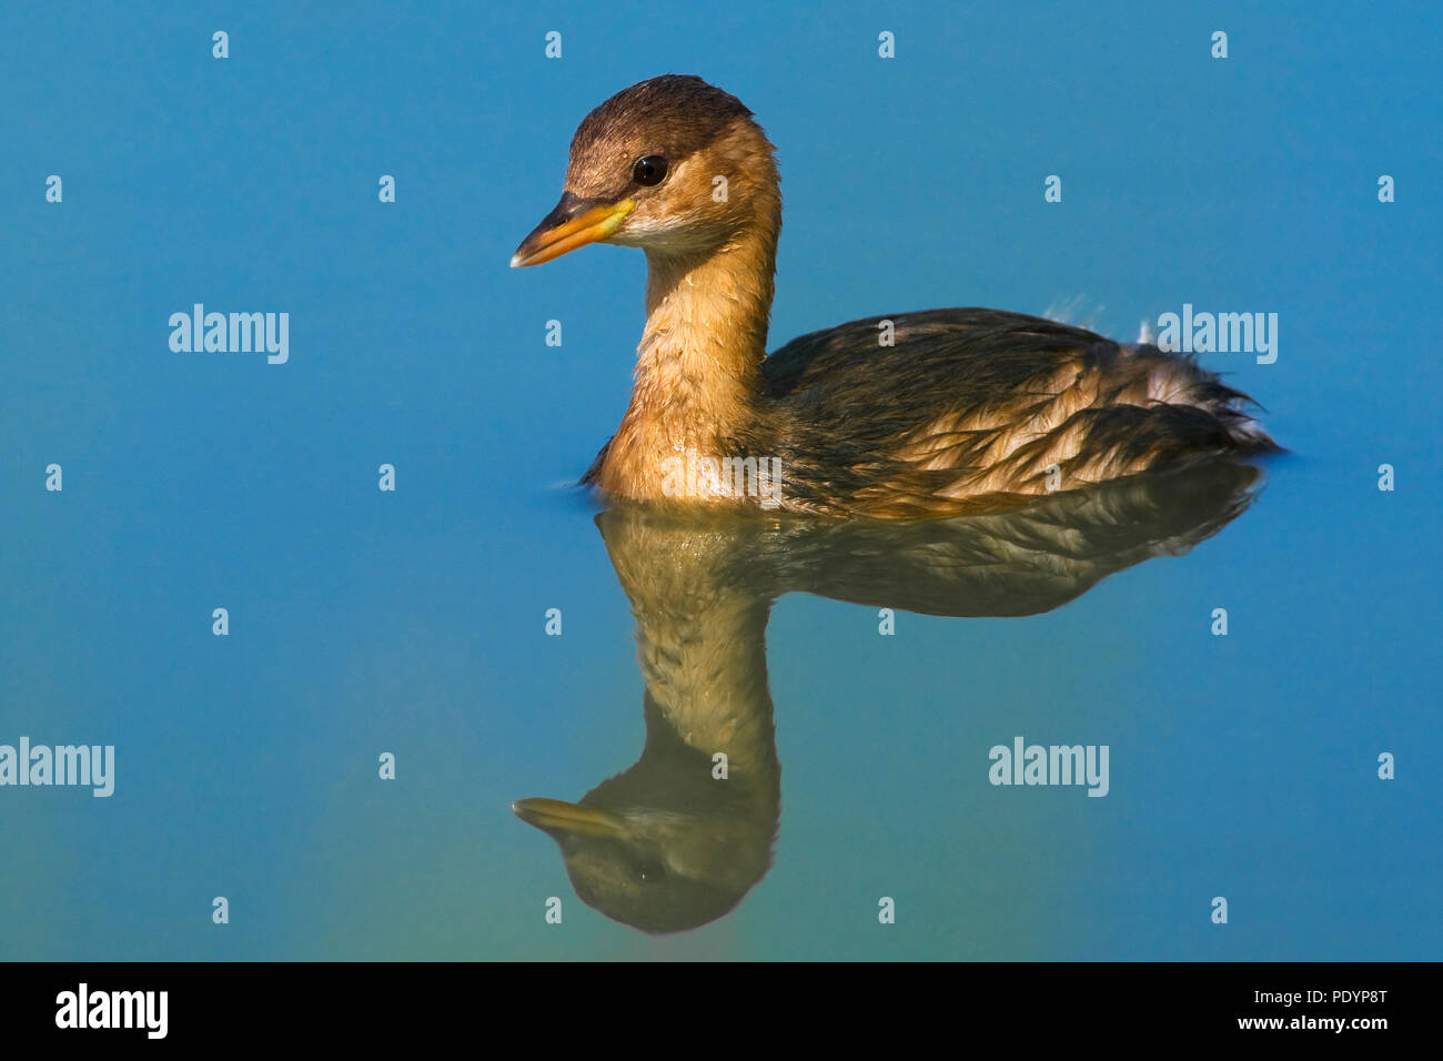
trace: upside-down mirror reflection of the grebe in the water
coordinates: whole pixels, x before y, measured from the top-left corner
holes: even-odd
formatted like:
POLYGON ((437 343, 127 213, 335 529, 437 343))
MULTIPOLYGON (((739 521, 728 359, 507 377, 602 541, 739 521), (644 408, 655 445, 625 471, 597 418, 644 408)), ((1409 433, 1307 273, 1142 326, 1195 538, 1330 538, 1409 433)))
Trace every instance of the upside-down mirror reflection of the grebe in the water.
POLYGON ((597 515, 636 616, 646 745, 580 803, 515 813, 561 846, 576 894, 649 933, 713 921, 766 873, 781 810, 766 619, 807 592, 929 615, 1036 615, 1113 572, 1177 556, 1255 494, 1211 460, 942 521, 759 520, 645 507, 597 515), (726 780, 714 755, 726 755, 726 780))

